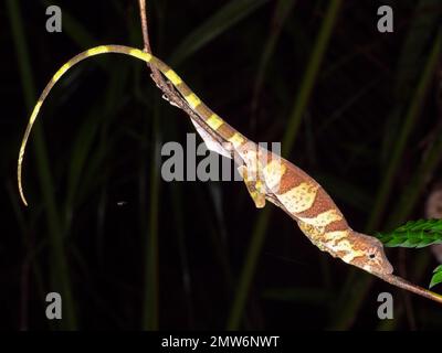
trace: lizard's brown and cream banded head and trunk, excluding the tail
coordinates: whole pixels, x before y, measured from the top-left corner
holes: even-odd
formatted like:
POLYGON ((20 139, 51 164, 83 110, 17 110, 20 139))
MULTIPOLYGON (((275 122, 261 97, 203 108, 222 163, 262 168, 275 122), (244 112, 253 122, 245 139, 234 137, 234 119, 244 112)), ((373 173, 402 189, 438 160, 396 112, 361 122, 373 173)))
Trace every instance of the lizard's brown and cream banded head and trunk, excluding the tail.
POLYGON ((382 244, 350 228, 327 192, 290 161, 271 154, 262 170, 266 199, 295 220, 320 250, 369 272, 391 274, 382 244))

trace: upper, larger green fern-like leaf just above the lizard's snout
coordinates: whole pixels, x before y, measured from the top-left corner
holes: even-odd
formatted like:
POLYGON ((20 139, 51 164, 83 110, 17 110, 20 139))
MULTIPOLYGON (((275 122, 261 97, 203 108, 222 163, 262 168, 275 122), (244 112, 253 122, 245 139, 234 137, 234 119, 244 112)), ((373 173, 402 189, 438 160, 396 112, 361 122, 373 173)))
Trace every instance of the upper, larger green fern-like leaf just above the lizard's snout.
POLYGON ((421 248, 442 244, 442 220, 409 221, 390 233, 376 235, 386 247, 421 248))

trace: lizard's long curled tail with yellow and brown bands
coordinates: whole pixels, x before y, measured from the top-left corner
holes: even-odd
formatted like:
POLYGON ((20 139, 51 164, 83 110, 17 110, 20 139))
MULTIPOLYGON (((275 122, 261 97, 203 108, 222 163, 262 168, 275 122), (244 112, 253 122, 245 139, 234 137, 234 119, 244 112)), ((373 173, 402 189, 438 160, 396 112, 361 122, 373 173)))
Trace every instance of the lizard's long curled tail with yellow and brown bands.
POLYGON ((180 95, 186 99, 188 105, 194 110, 199 117, 201 117, 203 124, 206 124, 209 129, 217 131, 218 135, 222 136, 225 140, 232 140, 236 143, 244 142, 245 139, 232 127, 230 127, 221 117, 214 114, 209 107, 207 107, 200 98, 183 83, 181 77, 179 77, 168 65, 161 62, 159 58, 154 55, 146 53, 141 50, 124 46, 124 45, 99 45, 87 51, 84 51, 74 57, 72 57, 67 63, 65 63, 60 69, 54 74, 51 81, 48 83, 46 87, 44 87, 42 94, 36 101, 34 109, 32 110, 31 117, 29 119, 27 129, 24 131, 24 136, 20 146, 19 159, 18 159, 18 169, 17 169, 17 178, 19 184, 20 197, 23 201, 24 205, 28 205, 27 199, 24 196, 23 186, 22 186, 22 164, 25 147, 28 143, 29 136, 31 133, 32 127, 35 122, 35 119, 39 115, 40 108, 43 105, 44 99, 48 97, 49 93, 56 84, 56 82, 75 64, 81 61, 105 53, 118 53, 125 54, 133 57, 137 57, 146 63, 158 68, 177 88, 180 95))

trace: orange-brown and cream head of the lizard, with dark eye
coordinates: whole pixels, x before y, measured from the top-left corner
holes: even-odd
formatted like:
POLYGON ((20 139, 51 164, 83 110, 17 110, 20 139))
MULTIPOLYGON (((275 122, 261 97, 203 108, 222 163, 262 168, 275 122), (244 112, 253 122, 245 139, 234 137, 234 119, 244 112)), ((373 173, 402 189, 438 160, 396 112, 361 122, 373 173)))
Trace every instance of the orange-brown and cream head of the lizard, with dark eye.
POLYGON ((357 256, 349 260, 354 266, 357 266, 370 274, 390 275, 393 272, 393 267, 388 260, 383 252, 383 245, 377 238, 361 233, 352 232, 356 237, 355 244, 358 249, 357 256))

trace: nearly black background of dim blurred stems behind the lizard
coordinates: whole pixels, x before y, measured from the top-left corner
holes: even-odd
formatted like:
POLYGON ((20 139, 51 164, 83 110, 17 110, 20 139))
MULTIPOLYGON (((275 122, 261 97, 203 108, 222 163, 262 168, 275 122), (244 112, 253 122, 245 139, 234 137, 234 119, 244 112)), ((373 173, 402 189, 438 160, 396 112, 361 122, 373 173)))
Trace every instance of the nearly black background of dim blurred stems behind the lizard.
MULTIPOLYGON (((0 328, 442 324, 438 304, 319 252, 286 214, 256 210, 242 183, 161 181, 159 148, 185 143, 193 128, 160 98, 146 66, 122 55, 83 62, 51 93, 24 162, 25 208, 15 164, 41 89, 91 46, 143 47, 135 0, 51 3, 62 8, 62 33, 45 31, 46 1, 0 8, 0 328), (62 295, 61 321, 44 315, 51 291, 62 295), (394 297, 394 320, 377 318, 381 291, 394 297), (238 293, 248 293, 244 311, 238 293)), ((285 157, 323 184, 354 228, 389 229, 424 216, 441 181, 442 64, 431 62, 441 1, 147 4, 154 53, 251 139, 282 141, 292 131, 285 157), (377 31, 382 4, 393 8, 393 33, 377 31)), ((388 256, 401 275, 428 286, 436 266, 429 248, 388 256)))

